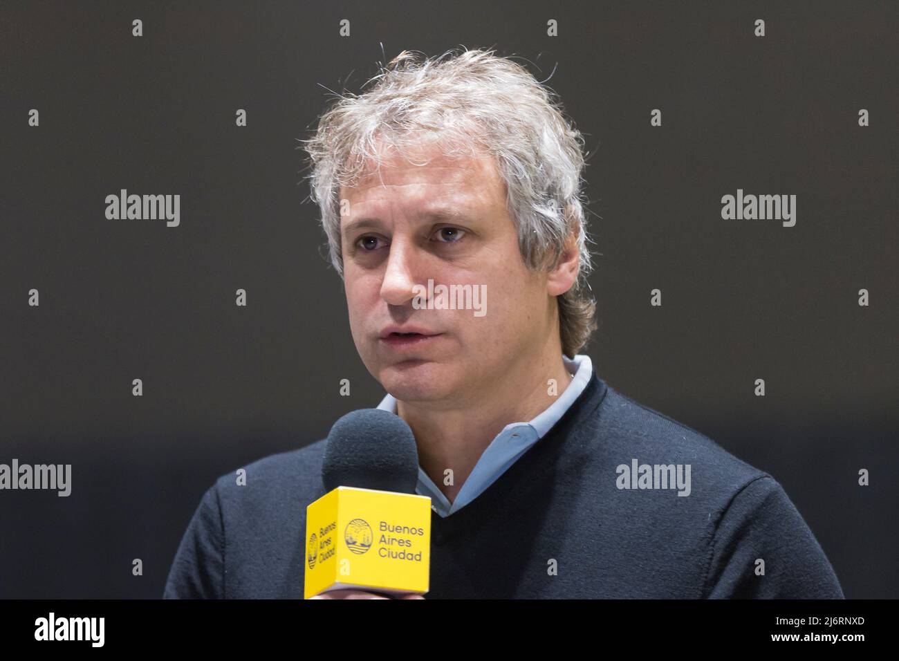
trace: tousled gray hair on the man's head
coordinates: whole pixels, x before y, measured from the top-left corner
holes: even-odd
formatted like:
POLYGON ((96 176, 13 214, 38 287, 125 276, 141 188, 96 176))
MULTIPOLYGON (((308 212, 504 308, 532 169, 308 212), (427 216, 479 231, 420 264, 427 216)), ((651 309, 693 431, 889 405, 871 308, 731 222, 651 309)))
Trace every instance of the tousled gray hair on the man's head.
MULTIPOLYGON (((556 94, 494 50, 449 50, 425 58, 404 50, 381 67, 363 94, 337 94, 313 138, 301 140, 311 166, 310 198, 319 205, 331 263, 343 278, 340 189, 378 168, 378 143, 403 147, 425 133, 446 156, 492 154, 506 184, 506 207, 531 270, 558 264, 566 239, 580 248, 572 288, 557 296, 562 351, 572 358, 596 329, 596 302, 582 197, 583 136, 565 120, 556 94)), ((551 267, 551 268, 552 268, 551 267)))

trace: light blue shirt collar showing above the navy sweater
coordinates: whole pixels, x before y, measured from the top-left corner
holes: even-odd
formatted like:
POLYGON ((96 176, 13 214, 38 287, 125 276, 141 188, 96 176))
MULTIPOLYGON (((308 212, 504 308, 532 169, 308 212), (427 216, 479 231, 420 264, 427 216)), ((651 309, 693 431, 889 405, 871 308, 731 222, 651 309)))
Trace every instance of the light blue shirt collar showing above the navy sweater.
MULTIPOLYGON (((497 478, 512 466, 531 445, 538 442, 552 428, 559 418, 565 415, 568 407, 574 403, 577 396, 583 392, 590 382, 593 373, 593 365, 590 356, 578 353, 574 360, 562 355, 565 368, 574 375, 574 379, 568 384, 558 399, 543 413, 539 414, 530 423, 511 423, 503 427, 503 431, 487 446, 487 449, 477 460, 475 469, 465 480, 465 484, 459 489, 456 499, 449 503, 443 492, 433 483, 421 466, 418 467, 418 486, 415 487, 419 496, 431 496, 431 505, 437 514, 443 517, 468 505, 477 496, 484 493, 485 488, 492 485, 497 478)), ((391 413, 396 413, 396 397, 387 393, 387 397, 381 400, 378 408, 391 413)))

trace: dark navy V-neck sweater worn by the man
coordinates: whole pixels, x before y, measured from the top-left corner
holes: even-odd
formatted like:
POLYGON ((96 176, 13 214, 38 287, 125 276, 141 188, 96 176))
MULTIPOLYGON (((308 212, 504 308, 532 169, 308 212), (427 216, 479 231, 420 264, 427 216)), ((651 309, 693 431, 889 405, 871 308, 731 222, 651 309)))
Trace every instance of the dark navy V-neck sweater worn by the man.
MULTIPOLYGON (((218 478, 165 598, 302 599, 306 507, 325 494, 324 449, 322 440, 255 461, 243 486, 234 473, 218 478)), ((483 494, 446 518, 432 512, 426 599, 759 597, 843 594, 774 478, 595 373, 483 494), (690 465, 689 496, 652 475, 631 481, 619 467, 634 460, 690 465)))

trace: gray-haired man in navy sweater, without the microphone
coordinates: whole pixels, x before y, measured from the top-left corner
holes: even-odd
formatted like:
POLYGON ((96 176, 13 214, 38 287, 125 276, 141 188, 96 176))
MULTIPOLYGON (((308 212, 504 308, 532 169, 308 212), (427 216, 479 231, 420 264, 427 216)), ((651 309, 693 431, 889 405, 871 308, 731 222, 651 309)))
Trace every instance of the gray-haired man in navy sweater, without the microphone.
MULTIPOLYGON (((595 327, 583 138, 526 69, 404 52, 307 142, 354 343, 432 497, 428 598, 842 597, 774 478, 578 353, 595 327), (441 307, 435 283, 486 297, 441 307)), ((219 478, 165 596, 300 598, 324 443, 219 478)))

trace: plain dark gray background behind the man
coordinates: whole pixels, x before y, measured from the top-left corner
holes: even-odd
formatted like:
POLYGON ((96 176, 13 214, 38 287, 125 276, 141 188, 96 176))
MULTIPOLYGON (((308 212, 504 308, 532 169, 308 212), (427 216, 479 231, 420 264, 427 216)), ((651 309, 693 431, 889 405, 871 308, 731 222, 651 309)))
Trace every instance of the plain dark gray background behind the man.
POLYGON ((377 406, 296 147, 380 43, 556 68, 592 152, 600 377, 777 478, 847 596, 899 596, 899 10, 784 5, 4 3, 0 462, 73 486, 0 492, 0 596, 160 596, 215 478, 377 406), (105 219, 120 188, 181 194, 181 226, 105 219), (797 194, 796 227, 722 220, 738 188, 797 194))

